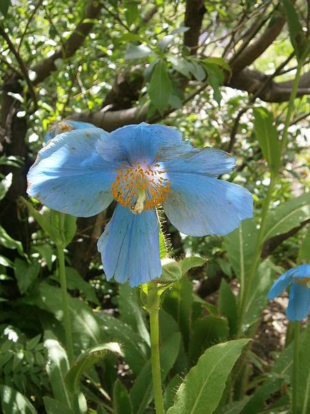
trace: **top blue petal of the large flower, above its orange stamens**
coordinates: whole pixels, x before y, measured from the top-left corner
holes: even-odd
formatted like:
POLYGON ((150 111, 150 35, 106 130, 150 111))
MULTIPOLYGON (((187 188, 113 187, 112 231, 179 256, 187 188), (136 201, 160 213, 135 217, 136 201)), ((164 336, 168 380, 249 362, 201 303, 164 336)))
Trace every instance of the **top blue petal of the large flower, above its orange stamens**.
POLYGON ((161 161, 192 148, 182 141, 176 128, 163 125, 127 125, 110 133, 108 139, 98 143, 99 154, 107 160, 128 161, 130 164, 152 164, 156 157, 161 161))

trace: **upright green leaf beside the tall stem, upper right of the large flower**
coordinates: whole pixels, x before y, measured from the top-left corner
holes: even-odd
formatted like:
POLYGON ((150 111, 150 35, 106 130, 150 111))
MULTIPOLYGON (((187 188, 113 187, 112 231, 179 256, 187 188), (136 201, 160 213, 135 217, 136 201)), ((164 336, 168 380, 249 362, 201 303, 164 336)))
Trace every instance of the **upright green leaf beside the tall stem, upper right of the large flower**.
POLYGON ((266 108, 254 108, 254 130, 262 155, 264 155, 271 174, 277 174, 280 168, 280 141, 274 126, 273 115, 266 108))

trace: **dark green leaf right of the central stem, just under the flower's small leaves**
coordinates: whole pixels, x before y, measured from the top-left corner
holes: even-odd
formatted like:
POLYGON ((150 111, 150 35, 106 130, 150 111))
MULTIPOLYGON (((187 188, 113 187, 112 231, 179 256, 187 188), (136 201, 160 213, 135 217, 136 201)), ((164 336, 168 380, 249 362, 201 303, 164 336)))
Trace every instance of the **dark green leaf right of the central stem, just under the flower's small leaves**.
POLYGON ((181 279, 166 293, 163 309, 172 315, 183 335, 185 348, 188 346, 192 319, 193 286, 187 279, 181 279))

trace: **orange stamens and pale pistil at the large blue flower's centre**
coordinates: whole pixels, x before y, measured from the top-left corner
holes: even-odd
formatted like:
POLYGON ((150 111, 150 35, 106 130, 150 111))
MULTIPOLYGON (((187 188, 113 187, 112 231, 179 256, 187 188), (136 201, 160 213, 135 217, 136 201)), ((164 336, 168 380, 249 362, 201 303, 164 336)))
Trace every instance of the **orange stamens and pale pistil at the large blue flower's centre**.
POLYGON ((132 213, 141 214, 158 206, 167 197, 171 181, 167 178, 167 169, 156 163, 149 166, 145 161, 116 170, 111 192, 122 206, 130 208, 132 213))

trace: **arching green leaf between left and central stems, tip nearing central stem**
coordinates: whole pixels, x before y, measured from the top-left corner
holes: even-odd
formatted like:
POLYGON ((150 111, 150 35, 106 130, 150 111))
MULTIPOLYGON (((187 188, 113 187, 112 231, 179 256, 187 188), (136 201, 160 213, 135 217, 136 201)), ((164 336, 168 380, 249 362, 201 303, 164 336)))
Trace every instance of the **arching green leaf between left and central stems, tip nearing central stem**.
POLYGON ((107 337, 122 344, 125 361, 132 368, 134 374, 138 374, 149 360, 149 345, 120 319, 106 313, 101 313, 100 317, 103 322, 102 328, 107 337))

